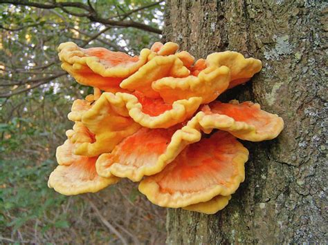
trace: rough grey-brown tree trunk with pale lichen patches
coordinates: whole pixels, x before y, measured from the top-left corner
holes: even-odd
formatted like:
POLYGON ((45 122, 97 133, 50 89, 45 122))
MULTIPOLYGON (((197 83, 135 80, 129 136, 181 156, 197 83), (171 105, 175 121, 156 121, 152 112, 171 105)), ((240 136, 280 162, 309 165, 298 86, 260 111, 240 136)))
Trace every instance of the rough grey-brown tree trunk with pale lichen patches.
POLYGON ((327 242, 327 12, 314 0, 167 1, 163 39, 197 58, 235 50, 261 59, 253 81, 224 99, 257 101, 285 122, 273 141, 244 142, 246 181, 224 210, 168 211, 168 244, 327 242))

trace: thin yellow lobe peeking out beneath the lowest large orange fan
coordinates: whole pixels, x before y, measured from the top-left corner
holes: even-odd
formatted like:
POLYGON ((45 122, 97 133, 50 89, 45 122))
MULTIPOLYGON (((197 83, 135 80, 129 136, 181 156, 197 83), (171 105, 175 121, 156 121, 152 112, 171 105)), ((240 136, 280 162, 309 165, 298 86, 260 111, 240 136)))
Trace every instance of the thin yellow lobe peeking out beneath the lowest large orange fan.
POLYGON ((206 213, 207 215, 213 215, 217 213, 219 210, 224 209, 229 200, 231 199, 231 195, 221 196, 217 195, 213 197, 208 202, 200 202, 199 204, 192 204, 190 206, 183 207, 185 210, 190 210, 198 213, 206 213))

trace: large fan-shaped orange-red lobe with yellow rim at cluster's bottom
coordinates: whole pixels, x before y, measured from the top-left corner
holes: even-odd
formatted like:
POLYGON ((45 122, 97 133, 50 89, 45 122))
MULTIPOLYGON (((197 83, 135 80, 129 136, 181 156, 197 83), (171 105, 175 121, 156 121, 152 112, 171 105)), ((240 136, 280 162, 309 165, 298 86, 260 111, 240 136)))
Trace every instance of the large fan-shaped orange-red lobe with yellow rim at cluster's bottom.
POLYGON ((185 148, 161 173, 143 179, 139 190, 150 202, 169 208, 208 202, 235 193, 247 159, 248 150, 233 135, 218 131, 185 148))

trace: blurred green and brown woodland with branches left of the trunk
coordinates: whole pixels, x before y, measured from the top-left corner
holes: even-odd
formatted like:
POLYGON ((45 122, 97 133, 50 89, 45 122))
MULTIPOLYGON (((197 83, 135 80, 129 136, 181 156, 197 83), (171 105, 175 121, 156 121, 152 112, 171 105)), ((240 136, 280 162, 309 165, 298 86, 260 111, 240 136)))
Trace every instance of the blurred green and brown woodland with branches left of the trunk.
POLYGON ((57 46, 138 55, 161 39, 164 1, 0 0, 0 243, 163 244, 165 209, 123 181, 66 197, 47 187, 73 100, 91 88, 60 68, 57 46))

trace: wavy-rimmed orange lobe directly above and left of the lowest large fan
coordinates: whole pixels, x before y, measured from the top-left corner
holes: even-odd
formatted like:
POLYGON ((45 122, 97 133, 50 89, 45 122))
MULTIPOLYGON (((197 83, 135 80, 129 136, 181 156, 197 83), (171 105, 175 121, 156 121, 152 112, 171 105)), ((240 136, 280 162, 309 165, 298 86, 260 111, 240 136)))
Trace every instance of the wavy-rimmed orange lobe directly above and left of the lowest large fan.
POLYGON ((138 182, 144 175, 160 172, 185 146, 201 139, 201 133, 192 125, 179 127, 140 128, 134 135, 123 139, 112 153, 100 155, 96 163, 98 174, 127 177, 138 182))

